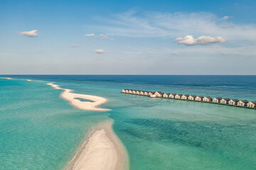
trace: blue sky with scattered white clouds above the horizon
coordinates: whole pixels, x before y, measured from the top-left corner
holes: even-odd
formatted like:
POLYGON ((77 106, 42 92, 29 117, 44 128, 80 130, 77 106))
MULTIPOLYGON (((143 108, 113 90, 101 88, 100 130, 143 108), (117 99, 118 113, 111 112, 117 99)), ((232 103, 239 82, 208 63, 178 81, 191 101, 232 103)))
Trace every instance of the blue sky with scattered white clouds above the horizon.
POLYGON ((255 0, 0 0, 0 74, 256 73, 255 0))

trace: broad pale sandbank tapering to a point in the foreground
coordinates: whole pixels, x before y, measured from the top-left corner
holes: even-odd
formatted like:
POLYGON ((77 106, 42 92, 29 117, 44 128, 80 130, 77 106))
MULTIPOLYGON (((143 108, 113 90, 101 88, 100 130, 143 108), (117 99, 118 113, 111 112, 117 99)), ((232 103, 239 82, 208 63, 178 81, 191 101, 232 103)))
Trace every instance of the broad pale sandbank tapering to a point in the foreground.
POLYGON ((127 152, 112 130, 112 122, 93 127, 65 170, 129 169, 127 152))

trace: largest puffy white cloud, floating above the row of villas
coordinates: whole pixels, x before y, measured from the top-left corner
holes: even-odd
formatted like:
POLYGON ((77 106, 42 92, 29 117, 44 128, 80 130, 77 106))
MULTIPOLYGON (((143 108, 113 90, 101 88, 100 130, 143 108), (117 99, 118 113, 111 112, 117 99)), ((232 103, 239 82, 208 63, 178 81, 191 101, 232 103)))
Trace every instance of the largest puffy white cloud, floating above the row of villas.
POLYGON ((224 38, 221 37, 210 37, 210 36, 200 36, 198 38, 193 38, 193 35, 186 35, 184 38, 176 38, 179 44, 183 45, 209 45, 213 43, 226 42, 224 38))

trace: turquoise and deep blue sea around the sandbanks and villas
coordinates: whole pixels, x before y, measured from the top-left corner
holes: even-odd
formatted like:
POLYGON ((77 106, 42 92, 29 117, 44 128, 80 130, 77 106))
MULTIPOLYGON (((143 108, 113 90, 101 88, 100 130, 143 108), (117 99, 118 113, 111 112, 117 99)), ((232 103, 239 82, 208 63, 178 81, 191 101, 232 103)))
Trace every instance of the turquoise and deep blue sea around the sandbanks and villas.
POLYGON ((13 79, 0 79, 0 169, 63 169, 87 130, 110 119, 132 170, 256 169, 255 109, 121 93, 140 89, 256 101, 256 76, 6 77, 13 79), (112 111, 73 108, 49 82, 105 97, 109 101, 101 107, 112 111))

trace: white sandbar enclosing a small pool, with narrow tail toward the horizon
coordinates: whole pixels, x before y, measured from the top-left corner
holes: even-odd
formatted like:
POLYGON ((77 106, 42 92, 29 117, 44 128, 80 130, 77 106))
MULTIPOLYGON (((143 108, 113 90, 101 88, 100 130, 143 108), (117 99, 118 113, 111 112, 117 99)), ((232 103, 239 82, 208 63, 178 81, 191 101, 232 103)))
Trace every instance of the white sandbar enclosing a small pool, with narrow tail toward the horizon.
POLYGON ((70 104, 75 108, 79 108, 85 111, 110 111, 110 109, 107 108, 97 108, 97 106, 100 106, 102 103, 106 103, 107 98, 85 94, 74 94, 72 93, 73 90, 60 88, 60 86, 58 86, 57 84, 48 83, 48 85, 52 86, 54 89, 63 90, 63 93, 60 94, 60 96, 65 100, 69 101, 70 104), (89 101, 80 101, 77 98, 84 98, 89 101))

